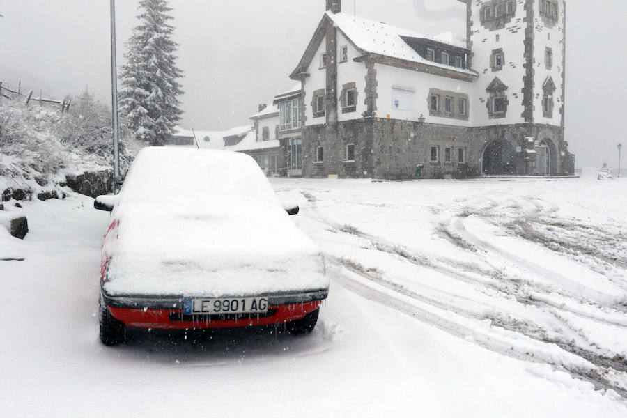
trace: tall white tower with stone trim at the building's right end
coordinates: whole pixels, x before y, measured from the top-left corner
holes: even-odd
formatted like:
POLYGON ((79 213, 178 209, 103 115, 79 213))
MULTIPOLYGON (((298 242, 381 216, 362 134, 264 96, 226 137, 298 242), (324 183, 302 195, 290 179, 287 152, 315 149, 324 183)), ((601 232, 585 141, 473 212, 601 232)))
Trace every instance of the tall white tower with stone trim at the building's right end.
POLYGON ((566 0, 467 5, 471 107, 483 174, 573 172, 564 141, 566 0), (486 111, 487 109, 487 111, 486 111))

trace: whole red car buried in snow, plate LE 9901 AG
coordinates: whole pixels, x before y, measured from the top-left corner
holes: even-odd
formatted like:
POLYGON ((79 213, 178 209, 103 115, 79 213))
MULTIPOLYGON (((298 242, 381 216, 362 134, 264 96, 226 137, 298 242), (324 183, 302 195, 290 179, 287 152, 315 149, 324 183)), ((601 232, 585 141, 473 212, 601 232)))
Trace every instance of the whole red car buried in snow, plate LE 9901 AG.
POLYGON ((325 264, 249 156, 144 148, 104 235, 100 339, 127 327, 193 330, 285 324, 311 332, 328 295, 325 264))

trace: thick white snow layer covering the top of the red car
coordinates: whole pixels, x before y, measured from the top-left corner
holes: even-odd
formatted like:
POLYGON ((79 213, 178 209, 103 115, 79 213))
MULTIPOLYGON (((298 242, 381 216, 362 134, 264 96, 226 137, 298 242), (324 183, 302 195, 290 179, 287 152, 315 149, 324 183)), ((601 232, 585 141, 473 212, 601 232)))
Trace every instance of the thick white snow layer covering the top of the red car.
POLYGON ((254 160, 180 151, 148 153, 167 155, 175 178, 164 179, 163 167, 148 164, 141 153, 134 162, 113 212, 118 222, 109 234, 115 236, 103 246, 111 257, 106 293, 219 297, 328 288, 318 248, 287 215, 254 160))

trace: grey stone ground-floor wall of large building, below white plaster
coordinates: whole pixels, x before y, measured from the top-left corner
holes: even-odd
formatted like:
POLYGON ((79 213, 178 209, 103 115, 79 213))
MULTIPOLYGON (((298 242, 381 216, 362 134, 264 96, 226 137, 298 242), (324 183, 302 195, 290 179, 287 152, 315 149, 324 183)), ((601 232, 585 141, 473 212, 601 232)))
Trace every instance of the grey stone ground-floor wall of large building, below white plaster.
MULTIPOLYGON (((552 175, 564 173, 562 151, 566 150, 564 130, 550 125, 495 125, 459 127, 364 118, 334 126, 303 128, 304 178, 469 178, 481 176, 483 152, 493 141, 506 141, 515 151, 514 174, 534 175, 535 142, 548 144, 552 175), (355 160, 346 161, 346 146, 355 144, 355 160), (322 146, 324 161, 316 162, 322 146), (437 158, 431 159, 435 147, 437 158), (448 149, 448 153, 447 153, 448 149), (460 161, 463 149, 463 161, 460 161), (529 150, 529 151, 527 151, 529 150), (447 159, 447 155, 449 158, 447 159), (417 170, 420 166, 420 170, 417 170)), ((566 150, 567 152, 567 150, 566 150)), ((570 171, 569 171, 570 172, 570 171)))

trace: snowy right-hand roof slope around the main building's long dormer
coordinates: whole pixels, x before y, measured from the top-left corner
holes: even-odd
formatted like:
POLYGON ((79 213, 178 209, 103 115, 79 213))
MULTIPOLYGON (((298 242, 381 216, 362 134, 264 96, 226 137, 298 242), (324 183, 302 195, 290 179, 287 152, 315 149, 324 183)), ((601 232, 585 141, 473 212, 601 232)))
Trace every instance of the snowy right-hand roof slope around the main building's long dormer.
POLYGON ((428 61, 418 54, 415 49, 410 47, 402 38, 432 40, 434 42, 450 45, 451 47, 465 49, 465 41, 462 41, 460 37, 452 32, 442 33, 438 36, 427 36, 423 33, 410 31, 409 29, 399 28, 391 24, 376 22, 346 13, 327 12, 327 17, 332 20, 335 26, 340 29, 351 42, 353 42, 357 49, 361 49, 364 53, 389 56, 404 61, 424 63, 447 68, 449 70, 474 74, 474 72, 470 70, 454 68, 451 65, 428 61))

